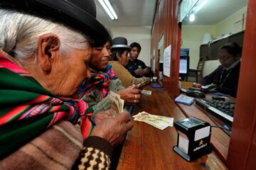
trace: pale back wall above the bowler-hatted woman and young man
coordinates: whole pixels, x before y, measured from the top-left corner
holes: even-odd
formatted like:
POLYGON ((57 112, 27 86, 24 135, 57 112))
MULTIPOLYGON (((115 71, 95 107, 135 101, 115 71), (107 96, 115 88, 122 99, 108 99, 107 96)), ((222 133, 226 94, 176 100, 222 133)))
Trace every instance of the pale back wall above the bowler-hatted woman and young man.
POLYGON ((151 27, 113 27, 109 29, 113 38, 120 36, 127 38, 128 45, 132 42, 138 42, 142 46, 139 60, 150 67, 151 27))

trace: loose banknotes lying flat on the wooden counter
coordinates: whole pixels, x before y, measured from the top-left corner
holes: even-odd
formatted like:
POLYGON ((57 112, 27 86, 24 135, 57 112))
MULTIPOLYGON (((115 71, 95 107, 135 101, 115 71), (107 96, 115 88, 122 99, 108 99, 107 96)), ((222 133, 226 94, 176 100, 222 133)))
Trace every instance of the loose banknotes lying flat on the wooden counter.
POLYGON ((169 126, 173 126, 174 118, 168 118, 161 115, 151 115, 146 112, 138 113, 137 115, 132 116, 134 120, 147 123, 152 125, 160 130, 164 130, 169 126))

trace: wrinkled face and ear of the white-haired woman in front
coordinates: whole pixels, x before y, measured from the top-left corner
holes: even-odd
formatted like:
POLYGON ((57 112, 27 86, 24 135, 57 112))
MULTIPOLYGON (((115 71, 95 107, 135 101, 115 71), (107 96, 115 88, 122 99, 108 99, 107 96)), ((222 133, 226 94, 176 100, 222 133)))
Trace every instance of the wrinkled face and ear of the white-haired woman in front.
MULTIPOLYGON (((58 36, 45 34, 38 38, 36 64, 23 62, 22 65, 45 89, 58 98, 70 100, 70 98, 78 98, 82 81, 90 79, 87 63, 91 55, 90 45, 60 55, 58 36)), ((29 60, 33 62, 35 59, 31 57, 29 60)))

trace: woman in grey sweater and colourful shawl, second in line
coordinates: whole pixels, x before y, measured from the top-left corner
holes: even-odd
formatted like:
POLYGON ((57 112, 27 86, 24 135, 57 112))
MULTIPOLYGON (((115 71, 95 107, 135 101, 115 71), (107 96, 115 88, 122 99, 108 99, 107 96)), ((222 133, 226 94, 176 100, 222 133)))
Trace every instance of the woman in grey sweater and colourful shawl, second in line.
POLYGON ((93 113, 110 109, 109 91, 119 94, 125 105, 139 103, 141 97, 137 86, 124 89, 122 81, 114 74, 112 65, 109 64, 111 41, 110 37, 105 45, 92 48, 92 59, 89 62, 92 77, 82 83, 79 91, 81 99, 92 107, 93 113))

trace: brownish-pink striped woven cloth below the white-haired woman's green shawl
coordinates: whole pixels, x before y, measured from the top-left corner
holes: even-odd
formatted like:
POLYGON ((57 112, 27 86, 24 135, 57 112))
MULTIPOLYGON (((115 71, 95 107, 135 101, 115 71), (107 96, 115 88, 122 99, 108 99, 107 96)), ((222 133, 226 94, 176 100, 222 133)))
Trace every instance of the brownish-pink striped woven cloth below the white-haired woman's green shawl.
POLYGON ((71 169, 82 149, 79 125, 60 120, 0 161, 0 169, 71 169))

